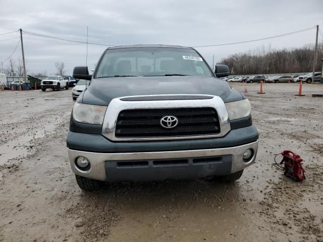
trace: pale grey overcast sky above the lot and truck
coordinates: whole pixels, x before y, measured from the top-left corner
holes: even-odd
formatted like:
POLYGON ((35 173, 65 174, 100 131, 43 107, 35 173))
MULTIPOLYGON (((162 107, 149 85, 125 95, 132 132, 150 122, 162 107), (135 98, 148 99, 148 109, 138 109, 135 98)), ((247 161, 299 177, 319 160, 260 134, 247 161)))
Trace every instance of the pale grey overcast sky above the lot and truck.
MULTIPOLYGON (((88 26, 89 42, 111 45, 197 46, 274 36, 317 24, 323 29, 323 0, 0 0, 0 6, 0 34, 22 28, 33 33, 86 41, 88 26)), ((19 36, 19 32, 0 35, 0 62, 10 56, 19 41, 19 38, 6 39, 19 36)), ((290 48, 314 41, 313 29, 270 40, 197 50, 212 65, 213 54, 214 62, 218 62, 229 54, 261 45, 290 48)), ((85 44, 28 34, 23 35, 23 42, 28 73, 47 71, 48 75, 54 74, 55 62, 64 62, 68 75, 72 74, 74 66, 85 66, 85 44)), ((105 48, 88 45, 89 69, 94 67, 105 48)), ((19 45, 13 58, 20 56, 19 45)), ((8 61, 4 67, 7 65, 8 61)))

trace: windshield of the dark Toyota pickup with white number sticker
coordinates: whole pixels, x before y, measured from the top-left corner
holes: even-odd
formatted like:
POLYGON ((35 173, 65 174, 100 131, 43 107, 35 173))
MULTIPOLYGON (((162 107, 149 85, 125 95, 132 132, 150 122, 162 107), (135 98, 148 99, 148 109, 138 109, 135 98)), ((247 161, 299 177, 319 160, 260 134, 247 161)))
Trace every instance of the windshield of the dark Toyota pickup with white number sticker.
POLYGON ((213 77, 194 49, 165 47, 109 49, 105 51, 95 77, 173 75, 213 77))

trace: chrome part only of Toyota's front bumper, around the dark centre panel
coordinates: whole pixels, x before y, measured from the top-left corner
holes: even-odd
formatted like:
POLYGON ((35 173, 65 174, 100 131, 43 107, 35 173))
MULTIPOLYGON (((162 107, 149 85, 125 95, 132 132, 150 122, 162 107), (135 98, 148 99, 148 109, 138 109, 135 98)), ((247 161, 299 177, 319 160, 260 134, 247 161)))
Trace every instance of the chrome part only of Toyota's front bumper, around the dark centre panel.
MULTIPOLYGON (((109 161, 136 161, 136 160, 151 160, 151 159, 177 159, 189 157, 210 157, 231 155, 232 165, 231 173, 242 170, 254 163, 258 149, 258 141, 246 145, 219 148, 219 149, 204 149, 204 150, 178 150, 164 152, 140 152, 140 153, 94 153, 68 149, 69 160, 73 172, 80 176, 85 176, 97 180, 107 180, 105 177, 105 162, 109 161), (253 150, 253 155, 248 162, 243 161, 243 154, 247 149, 253 150), (75 160, 83 156, 89 160, 91 167, 87 171, 80 170, 75 160)), ((134 168, 135 170, 135 168, 134 168)), ((165 170, 167 172, 167 170, 165 170)))

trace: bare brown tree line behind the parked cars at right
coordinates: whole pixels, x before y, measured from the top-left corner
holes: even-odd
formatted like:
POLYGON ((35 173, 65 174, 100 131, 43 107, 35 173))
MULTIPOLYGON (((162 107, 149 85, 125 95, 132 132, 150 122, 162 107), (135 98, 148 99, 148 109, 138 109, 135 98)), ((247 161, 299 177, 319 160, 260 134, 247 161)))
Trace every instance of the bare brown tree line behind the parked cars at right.
MULTIPOLYGON (((300 48, 273 49, 271 45, 261 46, 247 52, 231 54, 217 64, 229 67, 230 75, 255 75, 278 73, 312 72, 314 45, 307 44, 300 48)), ((315 71, 321 71, 323 41, 317 45, 315 71)))

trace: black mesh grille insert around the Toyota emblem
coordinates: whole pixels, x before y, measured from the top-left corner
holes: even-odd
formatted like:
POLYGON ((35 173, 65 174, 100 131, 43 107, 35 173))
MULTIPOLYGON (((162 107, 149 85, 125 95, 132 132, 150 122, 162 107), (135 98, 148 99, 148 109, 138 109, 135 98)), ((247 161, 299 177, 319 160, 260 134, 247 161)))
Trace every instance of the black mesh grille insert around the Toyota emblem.
POLYGON ((129 109, 119 113, 117 138, 181 137, 220 134, 218 113, 211 107, 129 109), (166 129, 160 119, 171 115, 178 119, 175 128, 166 129))

